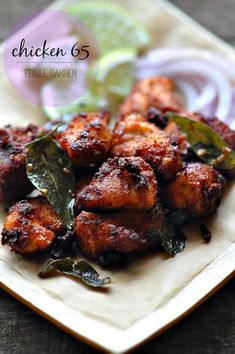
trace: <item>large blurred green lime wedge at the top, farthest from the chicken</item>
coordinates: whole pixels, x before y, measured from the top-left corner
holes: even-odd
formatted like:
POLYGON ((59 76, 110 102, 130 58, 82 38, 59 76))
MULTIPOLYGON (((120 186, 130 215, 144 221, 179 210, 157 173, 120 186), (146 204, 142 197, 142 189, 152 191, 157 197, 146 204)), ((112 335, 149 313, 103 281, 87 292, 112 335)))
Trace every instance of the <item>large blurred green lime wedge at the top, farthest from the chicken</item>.
POLYGON ((67 8, 78 15, 97 39, 101 54, 119 48, 141 49, 150 43, 143 25, 126 9, 113 3, 86 2, 67 8))

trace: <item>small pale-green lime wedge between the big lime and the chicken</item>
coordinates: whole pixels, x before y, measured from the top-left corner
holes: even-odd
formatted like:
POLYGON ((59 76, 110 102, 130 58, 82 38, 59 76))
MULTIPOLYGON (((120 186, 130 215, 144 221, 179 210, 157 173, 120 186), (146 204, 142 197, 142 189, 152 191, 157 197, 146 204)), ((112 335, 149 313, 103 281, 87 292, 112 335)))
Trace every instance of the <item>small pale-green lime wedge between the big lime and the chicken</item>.
POLYGON ((125 97, 134 83, 136 51, 117 49, 101 56, 88 69, 88 82, 98 92, 125 97))

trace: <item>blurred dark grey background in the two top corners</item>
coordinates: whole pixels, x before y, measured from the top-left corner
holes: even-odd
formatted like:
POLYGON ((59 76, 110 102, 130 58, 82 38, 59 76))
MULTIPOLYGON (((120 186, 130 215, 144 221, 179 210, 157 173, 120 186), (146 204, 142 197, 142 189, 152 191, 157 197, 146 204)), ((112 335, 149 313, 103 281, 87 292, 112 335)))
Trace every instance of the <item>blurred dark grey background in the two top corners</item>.
MULTIPOLYGON (((170 2, 219 37, 235 45, 234 0, 171 0, 170 2)), ((51 0, 1 0, 0 40, 6 38, 12 26, 24 16, 41 10, 51 3, 51 0)))

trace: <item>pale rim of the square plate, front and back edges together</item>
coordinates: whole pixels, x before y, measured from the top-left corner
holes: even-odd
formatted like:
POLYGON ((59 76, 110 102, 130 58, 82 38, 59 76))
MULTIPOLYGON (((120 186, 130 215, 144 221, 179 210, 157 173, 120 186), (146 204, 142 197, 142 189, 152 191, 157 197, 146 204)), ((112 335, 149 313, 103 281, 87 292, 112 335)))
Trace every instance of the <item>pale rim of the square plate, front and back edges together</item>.
MULTIPOLYGON (((166 0, 152 0, 152 1, 162 6, 179 21, 187 23, 187 25, 193 27, 194 30, 203 34, 204 37, 207 38, 210 42, 214 43, 217 47, 226 51, 228 55, 232 55, 235 58, 235 50, 232 46, 224 42, 222 39, 218 38, 216 35, 214 35, 212 32, 207 30, 202 25, 200 25, 189 15, 185 14, 182 10, 180 10, 177 6, 175 6, 174 4, 166 0)), ((48 8, 63 7, 63 5, 65 4, 66 4, 65 0, 59 0, 52 3, 48 8)), ((3 45, 4 43, 1 45, 1 49, 3 45)), ((225 285, 225 283, 227 283, 235 275, 234 274, 235 273, 234 271, 235 242, 233 242, 229 247, 227 247, 226 250, 221 255, 216 257, 207 267, 204 268, 204 270, 202 270, 195 278, 193 278, 193 280, 189 282, 189 284, 185 288, 183 288, 180 293, 176 294, 176 296, 169 301, 170 306, 175 306, 174 302, 181 301, 180 299, 181 297, 184 298, 185 291, 191 292, 193 290, 196 290, 198 284, 204 283, 204 289, 203 291, 200 292, 200 294, 202 294, 203 292, 204 295, 196 295, 196 293, 194 293, 194 300, 192 300, 191 298, 190 301, 191 303, 185 306, 183 312, 180 311, 181 312, 180 314, 175 313, 174 315, 171 313, 171 320, 165 321, 166 323, 162 322, 162 324, 159 326, 156 322, 156 318, 157 316, 159 316, 160 311, 166 311, 164 310, 165 305, 163 305, 160 306, 155 311, 153 311, 150 315, 139 320, 138 322, 136 322, 135 324, 133 324, 132 326, 124 330, 104 324, 101 320, 88 318, 88 316, 86 316, 85 314, 77 310, 73 310, 71 308, 69 308, 69 310, 76 313, 80 320, 86 321, 88 323, 88 326, 86 327, 86 331, 84 331, 84 329, 82 329, 79 326, 77 328, 74 327, 72 328, 69 325, 65 325, 63 323, 63 320, 59 319, 58 316, 56 316, 56 314, 54 314, 53 316, 53 314, 49 314, 48 311, 46 310, 44 311, 42 309, 43 306, 40 303, 41 302, 40 294, 42 295, 43 293, 44 298, 47 298, 47 300, 49 299, 49 301, 54 304, 55 309, 61 307, 61 304, 65 308, 68 308, 68 306, 64 305, 62 302, 58 300, 51 298, 50 295, 46 294, 45 291, 37 287, 35 284, 34 284, 35 288, 39 290, 38 293, 36 292, 30 293, 29 291, 26 294, 25 289, 27 289, 27 285, 24 286, 24 284, 28 284, 28 280, 25 279, 21 274, 19 274, 20 284, 11 283, 10 279, 6 279, 3 275, 4 274, 3 264, 9 267, 8 264, 6 264, 3 261, 0 261, 0 287, 3 290, 5 290, 7 293, 9 293, 11 296, 13 296, 16 300, 20 301, 25 306, 35 311, 37 314, 44 317, 46 320, 51 322, 56 327, 64 330, 65 332, 72 335, 73 337, 84 341, 88 345, 105 352, 123 354, 137 348, 138 346, 144 344, 146 341, 150 340, 151 338, 156 337, 161 333, 163 333, 165 330, 171 328, 174 324, 178 323, 180 320, 185 318, 189 313, 194 311, 194 309, 196 309, 200 304, 206 301, 223 285, 225 285), (223 259, 223 266, 225 265, 226 269, 224 269, 224 267, 221 267, 222 259, 223 259), (212 275, 215 277, 213 281, 207 282, 206 286, 204 282, 204 277, 206 277, 205 274, 207 275, 209 274, 210 277, 212 275), (34 298, 35 294, 36 294, 36 298, 34 298), (30 300, 30 298, 33 298, 34 301, 30 300), (102 332, 104 328, 106 329, 108 328, 111 334, 109 336, 106 336, 107 338, 105 338, 105 340, 104 338, 102 339, 99 338, 98 334, 96 336, 96 339, 94 339, 94 337, 93 339, 89 338, 90 323, 98 324, 99 326, 101 326, 102 330, 100 330, 100 332, 102 332), (148 325, 147 328, 146 325, 148 325), (144 327, 145 327, 145 332, 142 331, 140 332, 140 328, 144 328, 144 327), (140 334, 138 340, 136 340, 136 337, 135 338, 133 337, 133 333, 136 332, 140 334)))

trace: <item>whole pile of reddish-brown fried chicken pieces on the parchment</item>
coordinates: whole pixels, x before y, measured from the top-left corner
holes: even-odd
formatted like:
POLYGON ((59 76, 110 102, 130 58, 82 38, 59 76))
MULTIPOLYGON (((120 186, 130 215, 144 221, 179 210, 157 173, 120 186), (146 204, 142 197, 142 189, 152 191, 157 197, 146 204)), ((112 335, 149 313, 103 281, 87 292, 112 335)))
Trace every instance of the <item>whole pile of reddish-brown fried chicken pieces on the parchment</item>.
MULTIPOLYGON (((96 260, 157 248, 168 210, 186 220, 218 208, 225 178, 202 163, 167 111, 211 126, 235 149, 235 132, 217 118, 184 111, 165 77, 136 83, 120 106, 113 132, 106 112, 78 114, 56 139, 76 168, 74 237, 82 253, 96 260)), ((26 175, 25 144, 43 127, 0 129, 0 199, 9 209, 2 244, 22 254, 49 249, 66 232, 44 196, 26 175), (21 200, 21 201, 20 201, 21 200)))

